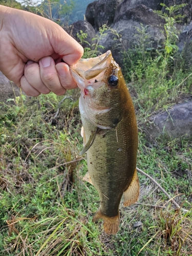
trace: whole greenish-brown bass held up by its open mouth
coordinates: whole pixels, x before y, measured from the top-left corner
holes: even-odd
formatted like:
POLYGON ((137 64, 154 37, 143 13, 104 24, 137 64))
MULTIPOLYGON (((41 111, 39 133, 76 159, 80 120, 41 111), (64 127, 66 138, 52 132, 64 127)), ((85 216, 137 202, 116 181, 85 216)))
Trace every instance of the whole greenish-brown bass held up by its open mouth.
POLYGON ((138 131, 134 104, 112 52, 80 59, 70 72, 80 88, 79 111, 88 173, 84 181, 99 194, 93 222, 103 220, 105 233, 119 229, 119 205, 130 206, 139 198, 136 170, 138 131))

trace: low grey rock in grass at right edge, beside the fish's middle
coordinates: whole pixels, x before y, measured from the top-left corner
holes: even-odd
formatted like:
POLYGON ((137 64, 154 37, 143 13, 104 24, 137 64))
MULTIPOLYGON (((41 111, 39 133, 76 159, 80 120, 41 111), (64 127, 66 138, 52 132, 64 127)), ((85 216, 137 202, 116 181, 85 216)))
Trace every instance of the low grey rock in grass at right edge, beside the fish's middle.
POLYGON ((154 123, 148 130, 152 137, 159 137, 161 134, 172 138, 192 136, 192 101, 176 104, 153 116, 150 122, 154 123))

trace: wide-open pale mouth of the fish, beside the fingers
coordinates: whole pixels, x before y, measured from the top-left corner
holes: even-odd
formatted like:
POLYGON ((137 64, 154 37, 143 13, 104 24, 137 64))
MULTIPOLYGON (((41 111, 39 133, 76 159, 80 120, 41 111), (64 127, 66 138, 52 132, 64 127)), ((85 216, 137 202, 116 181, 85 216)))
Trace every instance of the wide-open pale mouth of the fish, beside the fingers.
POLYGON ((84 81, 98 76, 110 66, 112 59, 112 52, 109 50, 95 58, 80 59, 76 64, 76 68, 70 66, 71 75, 77 82, 78 87, 84 89, 84 81))

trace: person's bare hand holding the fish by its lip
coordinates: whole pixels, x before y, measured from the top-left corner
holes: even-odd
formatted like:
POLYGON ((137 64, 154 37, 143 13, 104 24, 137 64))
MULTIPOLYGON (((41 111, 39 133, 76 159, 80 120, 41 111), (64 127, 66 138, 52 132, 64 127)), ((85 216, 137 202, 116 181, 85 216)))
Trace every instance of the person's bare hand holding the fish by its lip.
POLYGON ((0 5, 0 70, 27 95, 76 88, 68 65, 82 54, 78 42, 51 20, 0 5))

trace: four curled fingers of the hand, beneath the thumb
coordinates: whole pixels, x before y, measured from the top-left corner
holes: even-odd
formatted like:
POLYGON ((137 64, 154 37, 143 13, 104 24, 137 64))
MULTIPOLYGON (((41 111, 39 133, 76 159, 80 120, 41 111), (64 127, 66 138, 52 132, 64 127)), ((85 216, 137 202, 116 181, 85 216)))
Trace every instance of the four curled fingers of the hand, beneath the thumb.
POLYGON ((69 66, 60 62, 55 66, 51 57, 44 57, 39 63, 29 60, 25 66, 24 76, 20 79, 21 88, 29 96, 48 94, 50 91, 63 95, 66 90, 77 87, 69 66))

